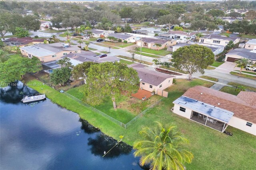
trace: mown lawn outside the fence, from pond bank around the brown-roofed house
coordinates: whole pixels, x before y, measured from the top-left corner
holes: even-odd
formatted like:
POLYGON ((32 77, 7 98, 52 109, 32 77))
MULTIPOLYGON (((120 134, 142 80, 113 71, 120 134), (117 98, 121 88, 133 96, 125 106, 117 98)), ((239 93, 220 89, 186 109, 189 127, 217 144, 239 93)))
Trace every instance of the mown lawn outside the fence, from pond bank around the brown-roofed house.
MULTIPOLYGON (((40 83, 34 79, 27 83, 34 82, 40 83)), ((51 87, 39 85, 32 88, 40 93, 46 93, 46 96, 54 103, 78 113, 82 119, 100 128, 103 133, 115 139, 124 135, 123 141, 131 145, 139 138, 138 132, 143 127, 155 126, 154 121, 160 121, 166 126, 175 125, 177 130, 190 141, 184 147, 194 154, 192 163, 185 165, 187 169, 254 169, 256 167, 256 136, 232 127, 226 129, 233 134, 233 136, 228 136, 170 112, 174 106, 172 101, 180 97, 188 88, 196 85, 210 87, 213 83, 200 79, 192 81, 176 79, 176 84, 166 89, 169 91, 168 98, 164 98, 159 105, 148 111, 127 129, 112 123, 51 87)))

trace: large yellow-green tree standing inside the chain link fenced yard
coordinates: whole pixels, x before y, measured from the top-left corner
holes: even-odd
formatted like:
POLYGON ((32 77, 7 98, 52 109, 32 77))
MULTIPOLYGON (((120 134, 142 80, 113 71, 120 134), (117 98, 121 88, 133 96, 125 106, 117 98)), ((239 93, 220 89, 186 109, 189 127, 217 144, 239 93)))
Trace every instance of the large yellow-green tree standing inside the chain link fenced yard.
POLYGON ((86 79, 85 100, 98 105, 104 96, 110 96, 116 109, 116 97, 122 91, 131 93, 138 88, 138 73, 122 63, 100 63, 91 65, 86 79))

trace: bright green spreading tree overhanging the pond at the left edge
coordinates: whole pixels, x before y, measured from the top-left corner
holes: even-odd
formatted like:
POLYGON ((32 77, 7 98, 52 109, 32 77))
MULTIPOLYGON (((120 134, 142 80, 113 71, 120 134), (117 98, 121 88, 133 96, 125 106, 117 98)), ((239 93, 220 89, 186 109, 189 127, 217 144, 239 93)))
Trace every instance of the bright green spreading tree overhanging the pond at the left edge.
POLYGON ((0 63, 0 86, 22 80, 26 73, 34 73, 41 68, 38 58, 15 57, 0 63))

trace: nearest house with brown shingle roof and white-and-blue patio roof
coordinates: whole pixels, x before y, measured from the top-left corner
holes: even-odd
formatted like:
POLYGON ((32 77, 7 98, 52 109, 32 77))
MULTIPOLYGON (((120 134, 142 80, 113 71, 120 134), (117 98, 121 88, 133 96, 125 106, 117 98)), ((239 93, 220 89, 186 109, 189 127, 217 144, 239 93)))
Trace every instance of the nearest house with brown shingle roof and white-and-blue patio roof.
POLYGON ((237 96, 196 86, 174 103, 173 113, 224 132, 228 125, 256 135, 256 92, 237 96))

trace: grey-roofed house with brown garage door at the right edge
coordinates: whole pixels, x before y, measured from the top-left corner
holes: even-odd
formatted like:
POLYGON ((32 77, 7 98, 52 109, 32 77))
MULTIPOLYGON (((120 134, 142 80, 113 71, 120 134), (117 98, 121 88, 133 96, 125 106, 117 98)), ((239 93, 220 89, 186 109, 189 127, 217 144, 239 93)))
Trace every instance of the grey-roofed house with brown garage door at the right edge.
POLYGON ((230 50, 225 57, 225 61, 234 62, 240 58, 247 58, 252 62, 256 62, 256 50, 246 48, 236 48, 230 50))

